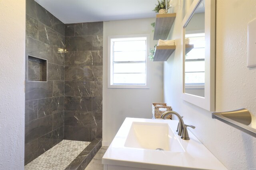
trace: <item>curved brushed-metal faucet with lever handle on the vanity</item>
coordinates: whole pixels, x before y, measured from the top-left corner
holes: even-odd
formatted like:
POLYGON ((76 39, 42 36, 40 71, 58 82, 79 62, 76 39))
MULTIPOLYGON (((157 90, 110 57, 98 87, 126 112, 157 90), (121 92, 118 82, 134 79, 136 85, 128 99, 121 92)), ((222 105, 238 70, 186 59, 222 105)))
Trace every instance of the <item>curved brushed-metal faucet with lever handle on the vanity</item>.
POLYGON ((168 115, 176 115, 179 119, 179 124, 178 124, 178 135, 181 137, 181 139, 184 139, 184 140, 189 140, 189 136, 188 136, 188 130, 187 130, 187 127, 191 127, 193 129, 195 129, 196 127, 192 126, 192 125, 186 125, 184 124, 184 121, 182 119, 182 117, 179 115, 179 113, 175 112, 175 111, 166 111, 164 112, 162 115, 161 115, 161 118, 162 119, 166 119, 166 117, 168 115))

